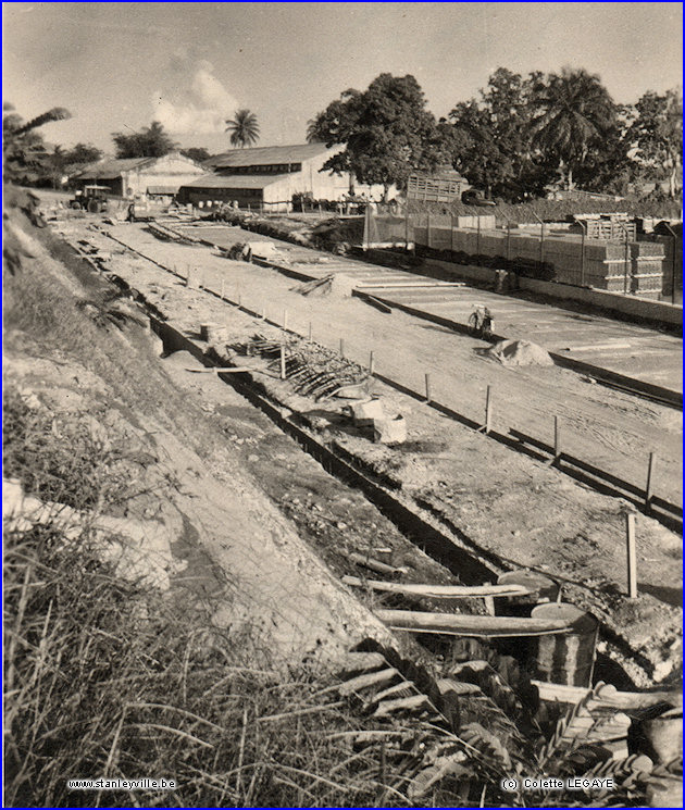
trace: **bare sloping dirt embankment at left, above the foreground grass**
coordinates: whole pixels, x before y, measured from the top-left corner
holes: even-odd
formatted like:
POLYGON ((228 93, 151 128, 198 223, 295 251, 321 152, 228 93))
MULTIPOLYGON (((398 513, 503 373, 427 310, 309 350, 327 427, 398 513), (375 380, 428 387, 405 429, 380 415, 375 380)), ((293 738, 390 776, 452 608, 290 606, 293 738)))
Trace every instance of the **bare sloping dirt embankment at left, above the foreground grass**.
MULTIPOLYGON (((212 415, 217 403, 205 386, 188 397, 167 375, 165 364, 187 360, 161 360, 158 339, 135 323, 142 323, 137 308, 108 298, 89 269, 78 278, 37 239, 10 228, 30 265, 5 281, 5 386, 57 420, 85 420, 120 453, 116 481, 128 486, 112 518, 144 527, 137 543, 141 556, 159 561, 150 562, 159 583, 210 599, 217 625, 244 624, 276 658, 328 659, 354 639, 387 639, 244 469, 240 445, 256 437, 238 443, 231 419, 212 415), (26 285, 35 285, 33 301, 26 285), (23 331, 34 308, 45 308, 40 344, 23 331), (60 348, 50 347, 52 337, 60 348), (234 440, 225 441, 226 432, 234 440)), ((228 414, 244 407, 236 399, 223 397, 228 414)))

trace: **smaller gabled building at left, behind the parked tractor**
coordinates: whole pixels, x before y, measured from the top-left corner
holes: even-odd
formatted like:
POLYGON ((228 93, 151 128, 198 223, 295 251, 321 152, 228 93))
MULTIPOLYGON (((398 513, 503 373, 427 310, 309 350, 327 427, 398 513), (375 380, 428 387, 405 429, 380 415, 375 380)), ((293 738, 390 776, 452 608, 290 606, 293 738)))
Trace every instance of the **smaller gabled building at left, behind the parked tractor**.
POLYGON ((174 197, 204 172, 200 163, 170 152, 162 158, 105 158, 71 179, 76 188, 108 186, 115 197, 174 197))

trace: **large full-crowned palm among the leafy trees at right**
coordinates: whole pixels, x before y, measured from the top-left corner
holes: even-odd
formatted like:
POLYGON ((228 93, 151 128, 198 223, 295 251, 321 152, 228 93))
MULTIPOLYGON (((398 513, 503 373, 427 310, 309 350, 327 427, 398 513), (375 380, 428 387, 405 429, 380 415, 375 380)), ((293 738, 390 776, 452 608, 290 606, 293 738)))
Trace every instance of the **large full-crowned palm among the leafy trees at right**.
POLYGON ((616 108, 599 76, 564 67, 538 84, 534 96, 533 144, 559 160, 573 188, 573 170, 615 123, 616 108))

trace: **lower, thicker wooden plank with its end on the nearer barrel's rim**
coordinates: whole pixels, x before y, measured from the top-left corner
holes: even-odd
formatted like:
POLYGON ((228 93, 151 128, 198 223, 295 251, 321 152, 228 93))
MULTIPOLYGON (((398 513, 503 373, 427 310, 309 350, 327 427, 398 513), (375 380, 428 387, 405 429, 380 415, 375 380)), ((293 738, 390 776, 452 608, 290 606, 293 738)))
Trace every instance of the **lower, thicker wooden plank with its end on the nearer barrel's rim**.
POLYGON ((415 610, 376 610, 375 614, 394 630, 452 636, 538 636, 570 630, 566 622, 556 619, 424 613, 415 610))

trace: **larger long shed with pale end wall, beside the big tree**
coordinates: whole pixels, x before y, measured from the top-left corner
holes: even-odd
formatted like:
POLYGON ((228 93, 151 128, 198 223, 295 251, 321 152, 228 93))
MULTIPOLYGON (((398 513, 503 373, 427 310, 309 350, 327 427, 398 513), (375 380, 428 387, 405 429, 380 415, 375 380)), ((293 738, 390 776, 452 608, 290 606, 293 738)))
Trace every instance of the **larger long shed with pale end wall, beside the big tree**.
POLYGON ((383 186, 356 183, 349 173, 321 171, 340 149, 325 144, 232 149, 207 161, 203 165, 212 174, 184 185, 178 201, 194 205, 237 201, 240 208, 289 211, 294 195, 332 201, 350 194, 381 198, 383 186))

